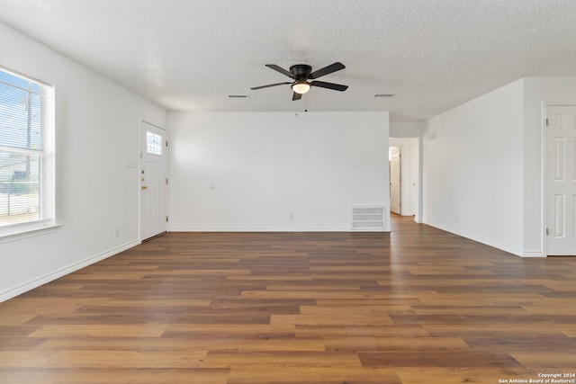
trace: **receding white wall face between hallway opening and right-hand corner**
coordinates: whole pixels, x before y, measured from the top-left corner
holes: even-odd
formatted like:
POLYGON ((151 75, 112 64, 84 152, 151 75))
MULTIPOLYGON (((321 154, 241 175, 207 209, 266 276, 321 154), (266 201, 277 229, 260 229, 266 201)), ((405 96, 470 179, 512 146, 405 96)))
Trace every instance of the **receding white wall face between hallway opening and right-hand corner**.
POLYGON ((423 221, 524 253, 524 83, 430 119, 423 136, 423 221))

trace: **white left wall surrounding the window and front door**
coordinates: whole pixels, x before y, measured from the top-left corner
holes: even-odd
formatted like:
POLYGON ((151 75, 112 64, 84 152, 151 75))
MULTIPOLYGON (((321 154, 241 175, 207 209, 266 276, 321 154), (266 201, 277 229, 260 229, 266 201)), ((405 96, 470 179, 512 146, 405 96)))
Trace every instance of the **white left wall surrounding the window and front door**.
POLYGON ((0 36, 0 65, 56 88, 56 219, 62 225, 0 243, 2 301, 138 243, 139 120, 166 127, 167 116, 1 23, 0 36))

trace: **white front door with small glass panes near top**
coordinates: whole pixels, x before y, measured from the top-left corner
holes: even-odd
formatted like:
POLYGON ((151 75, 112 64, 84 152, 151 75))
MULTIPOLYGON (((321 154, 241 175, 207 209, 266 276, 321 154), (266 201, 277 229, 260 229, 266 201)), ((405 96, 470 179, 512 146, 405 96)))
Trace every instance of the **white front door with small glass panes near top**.
POLYGON ((140 122, 140 239, 166 232, 166 130, 140 122))

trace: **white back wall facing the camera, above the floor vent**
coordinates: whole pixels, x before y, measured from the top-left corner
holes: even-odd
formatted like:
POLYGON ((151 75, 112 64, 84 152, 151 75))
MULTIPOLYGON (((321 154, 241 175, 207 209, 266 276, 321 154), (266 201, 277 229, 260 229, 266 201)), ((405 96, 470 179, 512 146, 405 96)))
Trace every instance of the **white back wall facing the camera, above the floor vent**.
POLYGON ((350 230, 351 206, 388 210, 388 124, 388 112, 169 113, 169 228, 350 230))

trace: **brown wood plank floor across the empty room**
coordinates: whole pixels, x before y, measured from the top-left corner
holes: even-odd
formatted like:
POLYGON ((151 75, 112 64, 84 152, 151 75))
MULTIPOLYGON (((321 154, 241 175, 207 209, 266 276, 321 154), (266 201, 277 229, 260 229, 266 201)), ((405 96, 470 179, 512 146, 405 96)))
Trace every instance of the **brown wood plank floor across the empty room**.
POLYGON ((412 218, 393 217, 392 230, 158 237, 1 303, 0 382, 576 372, 576 258, 523 259, 412 218))

